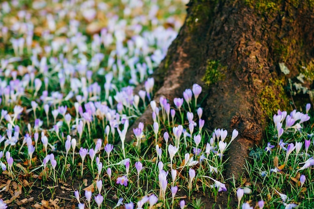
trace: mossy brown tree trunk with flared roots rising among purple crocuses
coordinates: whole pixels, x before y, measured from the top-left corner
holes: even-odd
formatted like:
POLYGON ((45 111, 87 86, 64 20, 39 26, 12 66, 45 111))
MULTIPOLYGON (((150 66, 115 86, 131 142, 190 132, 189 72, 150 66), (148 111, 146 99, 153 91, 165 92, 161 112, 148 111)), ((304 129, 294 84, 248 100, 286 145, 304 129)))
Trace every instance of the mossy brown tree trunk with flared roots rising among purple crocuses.
MULTIPOLYGON (((309 80, 303 85, 310 85, 314 3, 192 0, 187 6, 185 24, 154 73, 154 100, 173 101, 194 83, 206 86, 202 106, 208 128, 239 129, 227 169, 227 177, 237 176, 248 147, 261 141, 267 120, 289 107, 288 78, 303 73, 309 80), (283 74, 279 63, 290 73, 283 74)), ((143 120, 149 124, 151 109, 133 127, 143 120)))

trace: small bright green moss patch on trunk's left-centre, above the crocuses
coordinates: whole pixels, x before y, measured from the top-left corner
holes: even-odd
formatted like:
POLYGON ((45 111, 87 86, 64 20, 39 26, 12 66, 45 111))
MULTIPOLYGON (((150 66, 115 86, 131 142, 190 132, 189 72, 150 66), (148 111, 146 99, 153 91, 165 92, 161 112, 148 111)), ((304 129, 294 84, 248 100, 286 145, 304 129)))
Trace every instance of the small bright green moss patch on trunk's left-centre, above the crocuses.
POLYGON ((225 78, 225 74, 223 73, 225 70, 226 67, 222 66, 218 61, 208 61, 202 81, 204 81, 207 86, 215 84, 225 78))

